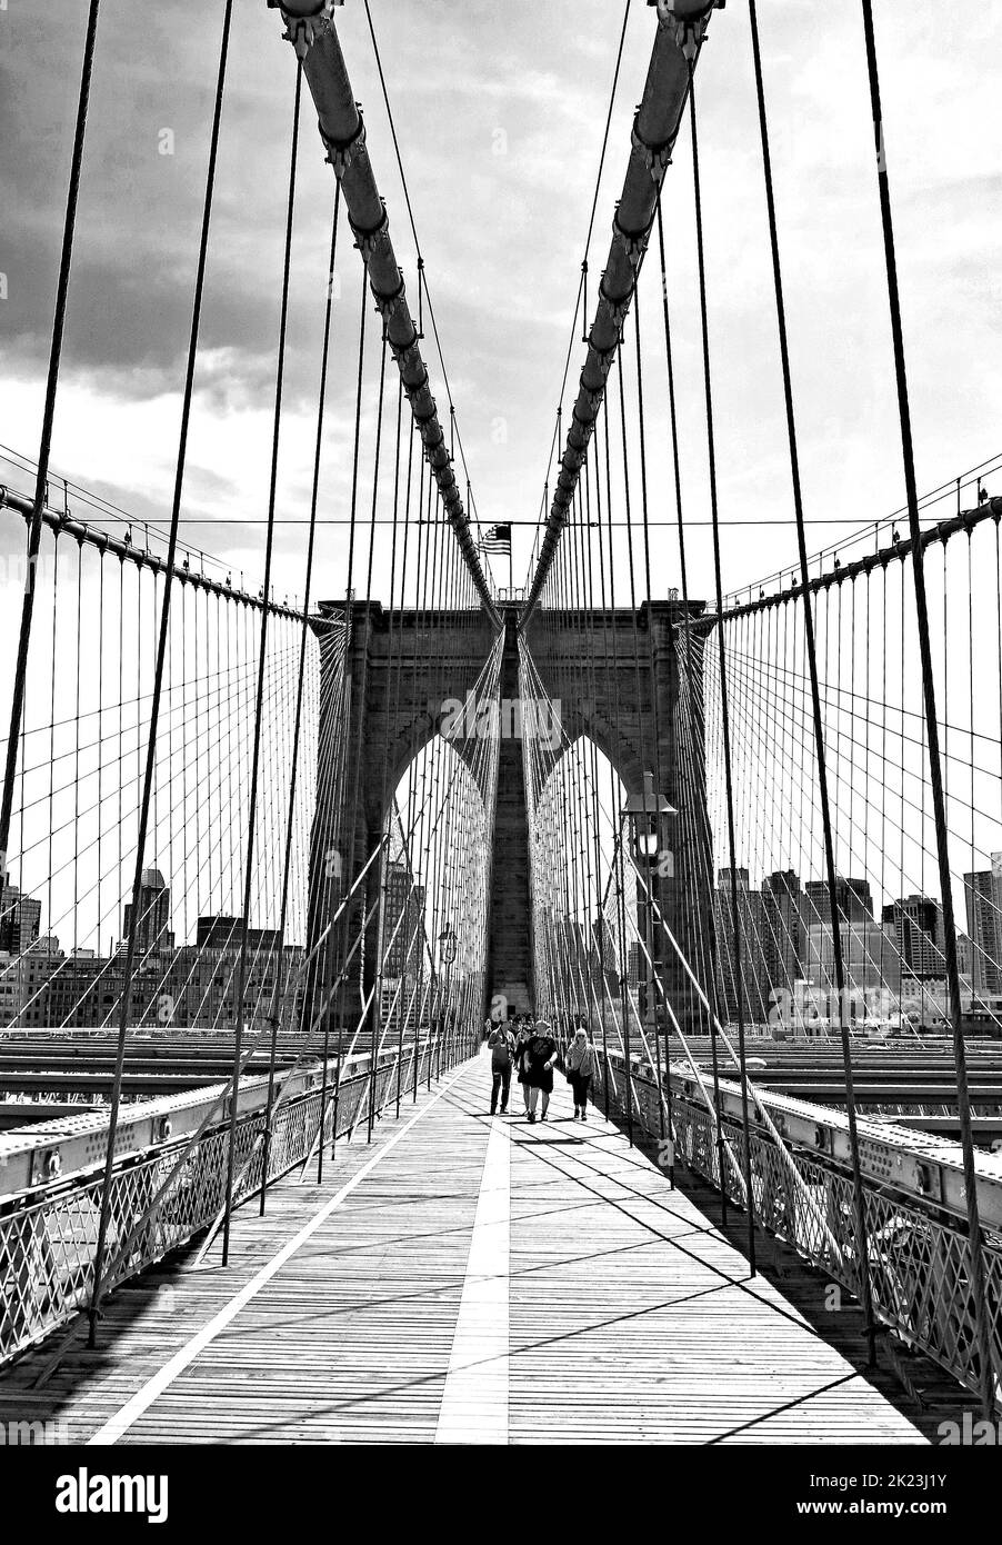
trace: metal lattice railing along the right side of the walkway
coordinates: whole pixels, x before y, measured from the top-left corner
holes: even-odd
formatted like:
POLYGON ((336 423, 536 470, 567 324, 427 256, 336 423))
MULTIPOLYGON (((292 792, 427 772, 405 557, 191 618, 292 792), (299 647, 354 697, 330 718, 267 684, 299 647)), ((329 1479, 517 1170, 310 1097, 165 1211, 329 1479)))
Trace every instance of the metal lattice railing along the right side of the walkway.
MULTIPOLYGON (((667 1102, 659 1097, 653 1071, 633 1065, 627 1097, 622 1057, 608 1055, 594 1097, 604 1097, 608 1074, 610 1114, 618 1120, 631 1114, 648 1136, 667 1134, 667 1102), (627 1106, 628 1098, 628 1106, 627 1106)), ((681 1083, 681 1082, 679 1082, 681 1083)), ((837 1125, 840 1112, 823 1111, 821 1123, 837 1125)), ((729 1202, 744 1208, 744 1126, 724 1115, 721 1132, 733 1162, 724 1160, 724 1188, 729 1202)), ((891 1134, 897 1129, 891 1128, 891 1134)), ((721 1190, 721 1151, 710 1112, 696 1098, 676 1091, 672 1078, 673 1159, 721 1190)), ((902 1137, 914 1134, 903 1132, 902 1137)), ((852 1210, 852 1180, 848 1165, 831 1154, 820 1156, 786 1142, 784 1153, 763 1129, 752 1129, 750 1173, 755 1219, 769 1234, 781 1239, 806 1262, 834 1282, 860 1295, 858 1251, 852 1210), (795 1171, 795 1173, 794 1173, 795 1171)), ((667 1149, 665 1149, 667 1153, 667 1149)), ((976 1310, 968 1284, 968 1242, 965 1219, 933 1200, 928 1205, 895 1188, 894 1168, 888 1177, 865 1176, 863 1216, 869 1242, 871 1292, 875 1316, 909 1346, 945 1367, 966 1389, 980 1392, 976 1310)), ((991 1332, 996 1406, 1002 1409, 1002 1234, 985 1234, 987 1309, 991 1332)))

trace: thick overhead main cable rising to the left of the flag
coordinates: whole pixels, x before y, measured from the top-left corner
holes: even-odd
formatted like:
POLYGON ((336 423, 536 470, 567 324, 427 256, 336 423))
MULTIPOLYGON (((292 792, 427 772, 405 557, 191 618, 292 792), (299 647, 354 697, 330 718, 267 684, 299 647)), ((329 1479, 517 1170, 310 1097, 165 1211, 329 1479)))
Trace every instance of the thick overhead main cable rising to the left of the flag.
POLYGON ((383 317, 386 337, 394 352, 400 379, 411 403, 411 413, 425 443, 425 457, 431 467, 438 491, 455 533, 463 559, 477 593, 494 626, 500 630, 500 616, 491 596, 477 548, 463 510, 463 501, 452 471, 452 459, 445 431, 438 422, 438 409, 431 394, 428 369, 421 358, 418 331, 411 318, 403 270, 389 235, 386 205, 369 161, 366 128, 341 53, 333 6, 324 0, 267 0, 279 9, 286 22, 286 37, 303 60, 303 74, 310 88, 318 116, 320 138, 341 184, 341 196, 355 243, 369 269, 372 297, 383 317))

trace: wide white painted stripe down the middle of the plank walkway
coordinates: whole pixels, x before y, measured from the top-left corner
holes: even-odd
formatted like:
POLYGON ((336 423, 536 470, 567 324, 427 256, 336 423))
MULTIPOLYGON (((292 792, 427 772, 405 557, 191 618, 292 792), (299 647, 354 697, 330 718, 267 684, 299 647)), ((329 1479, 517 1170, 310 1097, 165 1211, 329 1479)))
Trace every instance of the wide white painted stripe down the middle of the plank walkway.
POLYGON ((511 1142, 491 1122, 435 1443, 508 1443, 511 1142))

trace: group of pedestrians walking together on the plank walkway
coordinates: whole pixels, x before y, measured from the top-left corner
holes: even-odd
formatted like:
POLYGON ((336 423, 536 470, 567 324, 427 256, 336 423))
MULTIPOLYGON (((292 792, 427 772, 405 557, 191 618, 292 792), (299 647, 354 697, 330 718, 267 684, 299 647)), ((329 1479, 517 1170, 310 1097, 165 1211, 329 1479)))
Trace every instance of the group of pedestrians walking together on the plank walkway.
POLYGON ((574 1120, 588 1120, 588 1089, 594 1074, 594 1048, 588 1032, 579 1026, 570 1043, 560 1049, 548 1020, 536 1020, 530 1014, 509 1014, 502 1020, 488 1020, 488 1048, 491 1052, 491 1115, 508 1112, 511 1072, 522 1085, 525 1119, 533 1125, 545 1122, 553 1094, 554 1071, 560 1071, 574 1094, 574 1120))

